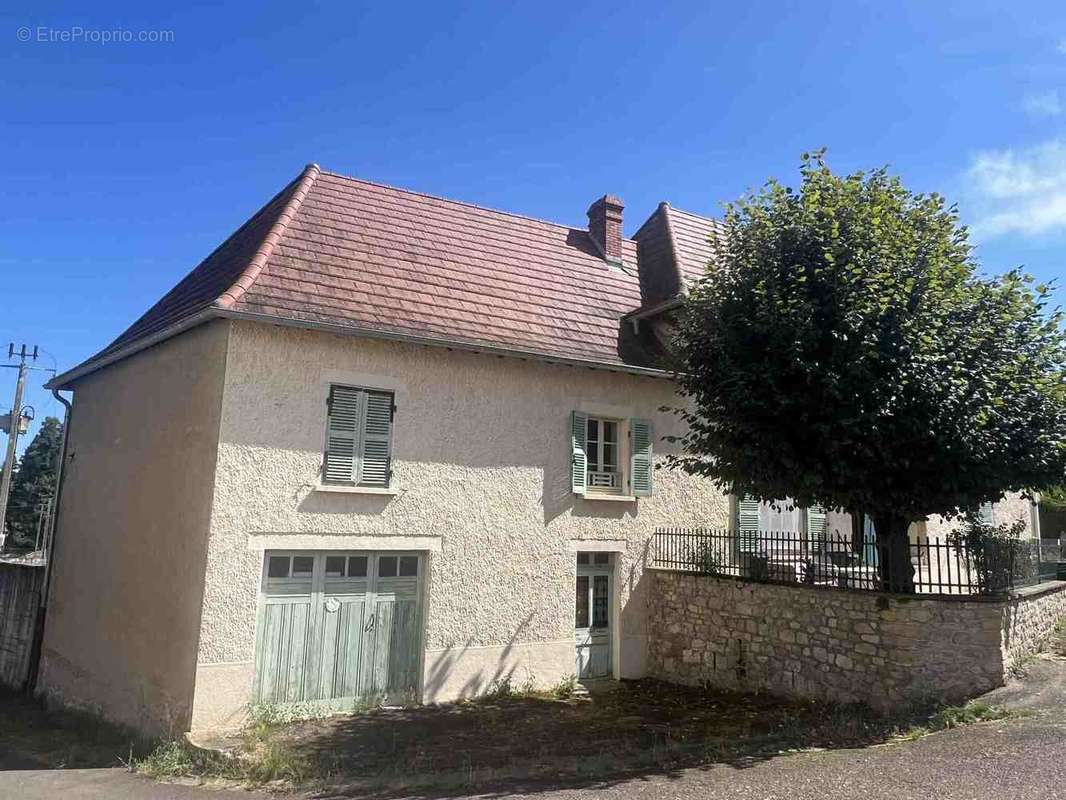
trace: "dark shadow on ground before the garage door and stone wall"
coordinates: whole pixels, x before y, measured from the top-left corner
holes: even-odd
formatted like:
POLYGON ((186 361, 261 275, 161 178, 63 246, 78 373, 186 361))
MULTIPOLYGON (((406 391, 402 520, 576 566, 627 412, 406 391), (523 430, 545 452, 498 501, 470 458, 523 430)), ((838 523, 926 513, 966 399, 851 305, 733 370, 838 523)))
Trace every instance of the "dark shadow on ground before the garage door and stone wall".
POLYGON ((825 704, 653 681, 591 697, 499 697, 286 725, 273 747, 327 788, 317 798, 445 798, 605 787, 782 752, 885 741, 899 720, 825 704))

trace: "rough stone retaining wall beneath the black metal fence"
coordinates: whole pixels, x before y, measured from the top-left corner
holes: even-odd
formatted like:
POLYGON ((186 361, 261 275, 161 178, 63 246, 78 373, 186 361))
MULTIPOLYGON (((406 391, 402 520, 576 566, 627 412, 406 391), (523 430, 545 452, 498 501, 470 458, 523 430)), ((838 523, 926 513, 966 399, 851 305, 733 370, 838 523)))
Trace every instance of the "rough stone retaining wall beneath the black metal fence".
POLYGON ((1002 685, 1066 613, 1066 582, 932 599, 649 574, 649 674, 886 709, 1002 685))

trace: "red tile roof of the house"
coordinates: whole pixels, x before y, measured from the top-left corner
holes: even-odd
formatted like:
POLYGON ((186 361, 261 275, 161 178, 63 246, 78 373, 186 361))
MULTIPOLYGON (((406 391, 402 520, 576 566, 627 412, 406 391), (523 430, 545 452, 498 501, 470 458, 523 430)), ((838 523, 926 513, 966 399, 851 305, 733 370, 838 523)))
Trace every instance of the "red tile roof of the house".
MULTIPOLYGON (((711 221, 668 213, 677 220, 674 269, 695 274, 711 221)), ((210 317, 644 369, 652 356, 621 324, 641 305, 635 241, 623 240, 619 269, 583 228, 312 164, 115 341, 54 383, 210 317)))

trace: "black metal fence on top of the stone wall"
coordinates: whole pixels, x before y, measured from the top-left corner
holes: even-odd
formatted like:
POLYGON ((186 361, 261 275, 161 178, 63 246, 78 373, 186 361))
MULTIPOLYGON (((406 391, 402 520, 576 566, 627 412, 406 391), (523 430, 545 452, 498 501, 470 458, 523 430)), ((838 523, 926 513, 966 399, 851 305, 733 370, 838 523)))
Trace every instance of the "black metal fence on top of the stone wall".
POLYGON ((1039 543, 1027 540, 910 541, 907 562, 893 561, 887 546, 840 537, 812 538, 795 531, 737 533, 710 528, 661 528, 653 564, 706 575, 770 583, 801 583, 879 591, 903 586, 895 567, 911 573, 920 594, 997 595, 1054 577, 1039 543))

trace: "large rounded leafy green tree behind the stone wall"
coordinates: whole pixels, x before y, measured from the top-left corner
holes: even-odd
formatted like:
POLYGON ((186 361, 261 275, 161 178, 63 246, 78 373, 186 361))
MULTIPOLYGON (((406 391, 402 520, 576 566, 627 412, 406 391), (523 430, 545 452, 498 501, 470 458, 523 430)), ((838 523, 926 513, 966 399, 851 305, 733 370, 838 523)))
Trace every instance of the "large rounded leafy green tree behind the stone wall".
POLYGON ((678 320, 675 463, 730 492, 873 516, 889 588, 907 528, 1066 474, 1066 341, 1049 287, 986 278, 954 207, 805 154, 727 207, 678 320))

